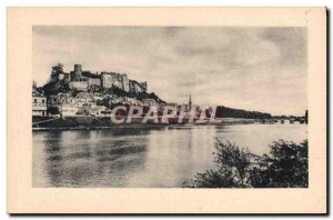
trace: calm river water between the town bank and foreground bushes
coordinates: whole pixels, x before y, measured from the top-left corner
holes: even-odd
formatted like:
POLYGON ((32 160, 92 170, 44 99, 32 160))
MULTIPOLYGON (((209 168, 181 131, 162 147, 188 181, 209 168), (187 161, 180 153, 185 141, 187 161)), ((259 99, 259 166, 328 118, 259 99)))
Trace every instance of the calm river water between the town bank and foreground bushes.
POLYGON ((33 187, 181 187, 213 169, 214 137, 269 153, 279 139, 301 142, 305 124, 169 126, 33 132, 33 187))

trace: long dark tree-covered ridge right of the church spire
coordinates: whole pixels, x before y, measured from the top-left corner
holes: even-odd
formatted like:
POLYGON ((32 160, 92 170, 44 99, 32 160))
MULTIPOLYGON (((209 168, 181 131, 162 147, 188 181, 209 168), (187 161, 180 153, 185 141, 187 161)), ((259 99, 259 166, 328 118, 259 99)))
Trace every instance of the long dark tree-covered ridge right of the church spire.
POLYGON ((259 111, 246 111, 242 109, 232 109, 223 106, 216 108, 218 118, 244 118, 244 119, 270 119, 272 114, 259 111))

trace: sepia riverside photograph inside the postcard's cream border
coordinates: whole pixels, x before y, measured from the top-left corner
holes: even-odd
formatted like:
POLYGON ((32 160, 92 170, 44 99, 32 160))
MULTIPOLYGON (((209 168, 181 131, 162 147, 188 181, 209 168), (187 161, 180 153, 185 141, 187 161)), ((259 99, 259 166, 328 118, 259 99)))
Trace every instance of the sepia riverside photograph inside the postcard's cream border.
POLYGON ((306 33, 34 26, 33 187, 306 188, 306 33))

